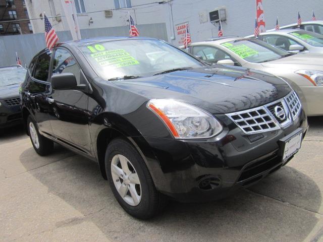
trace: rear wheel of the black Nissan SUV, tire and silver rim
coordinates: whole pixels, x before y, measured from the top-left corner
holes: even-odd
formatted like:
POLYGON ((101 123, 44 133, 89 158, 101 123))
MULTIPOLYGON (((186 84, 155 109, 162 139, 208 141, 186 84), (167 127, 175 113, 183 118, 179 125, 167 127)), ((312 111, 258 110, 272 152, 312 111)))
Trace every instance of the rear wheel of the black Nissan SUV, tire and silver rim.
POLYGON ((53 151, 54 143, 39 134, 37 125, 30 115, 27 118, 27 129, 31 144, 39 155, 45 156, 53 151))

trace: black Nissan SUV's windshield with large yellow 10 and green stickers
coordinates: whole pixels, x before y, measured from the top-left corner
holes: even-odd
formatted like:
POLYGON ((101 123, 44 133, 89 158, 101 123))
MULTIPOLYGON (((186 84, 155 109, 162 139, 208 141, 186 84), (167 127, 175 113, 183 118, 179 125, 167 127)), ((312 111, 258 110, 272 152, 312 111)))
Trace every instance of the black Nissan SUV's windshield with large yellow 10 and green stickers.
POLYGON ((168 70, 202 67, 189 54, 160 40, 117 40, 82 46, 93 69, 103 79, 146 77, 168 70))

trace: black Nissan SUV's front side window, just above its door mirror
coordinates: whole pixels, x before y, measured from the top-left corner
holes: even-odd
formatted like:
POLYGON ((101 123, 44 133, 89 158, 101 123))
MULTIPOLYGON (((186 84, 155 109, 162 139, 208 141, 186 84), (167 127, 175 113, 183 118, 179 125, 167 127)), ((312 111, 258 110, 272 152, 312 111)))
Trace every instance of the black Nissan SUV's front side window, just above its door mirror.
POLYGON ((85 84, 81 78, 81 68, 74 57, 66 49, 56 49, 53 59, 52 75, 61 73, 72 73, 78 85, 85 84))

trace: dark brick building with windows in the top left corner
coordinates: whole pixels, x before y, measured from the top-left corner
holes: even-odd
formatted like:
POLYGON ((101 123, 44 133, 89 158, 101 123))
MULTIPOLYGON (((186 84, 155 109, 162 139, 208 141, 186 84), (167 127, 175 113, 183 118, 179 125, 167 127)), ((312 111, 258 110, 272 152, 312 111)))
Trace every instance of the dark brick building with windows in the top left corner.
POLYGON ((0 0, 0 35, 32 33, 30 21, 22 19, 29 19, 24 0, 0 0))

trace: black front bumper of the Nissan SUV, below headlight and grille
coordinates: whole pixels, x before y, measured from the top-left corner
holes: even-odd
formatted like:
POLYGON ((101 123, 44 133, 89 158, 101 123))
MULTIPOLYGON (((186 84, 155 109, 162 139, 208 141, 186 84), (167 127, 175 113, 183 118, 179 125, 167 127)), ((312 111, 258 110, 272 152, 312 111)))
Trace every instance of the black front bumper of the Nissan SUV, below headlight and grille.
MULTIPOLYGON (((217 116, 222 122, 226 117, 217 116)), ((200 202, 227 197, 276 171, 282 163, 279 140, 298 128, 307 131, 302 110, 285 129, 246 135, 229 125, 219 136, 208 140, 182 141, 144 137, 154 156, 147 158, 155 186, 161 193, 182 202, 200 202), (214 181, 211 189, 203 180, 214 181)))

